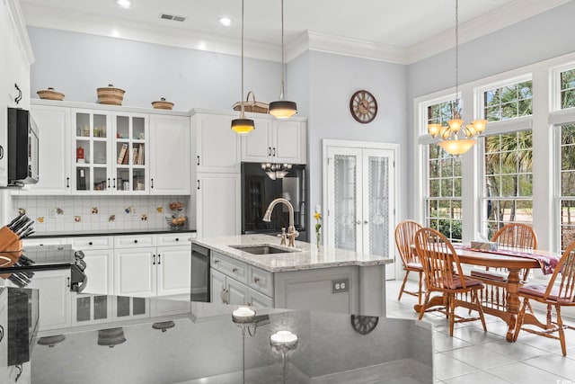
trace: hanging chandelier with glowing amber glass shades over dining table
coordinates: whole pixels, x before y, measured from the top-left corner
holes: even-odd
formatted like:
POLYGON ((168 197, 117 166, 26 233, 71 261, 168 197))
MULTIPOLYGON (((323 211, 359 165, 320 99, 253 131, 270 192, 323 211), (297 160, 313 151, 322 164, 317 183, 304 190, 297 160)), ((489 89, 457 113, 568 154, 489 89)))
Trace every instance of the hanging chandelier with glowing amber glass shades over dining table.
POLYGON ((487 125, 486 120, 475 120, 465 124, 459 115, 459 2, 456 0, 456 102, 452 105, 453 119, 447 126, 429 124, 428 132, 432 138, 439 138, 438 145, 449 155, 463 155, 476 143, 487 125))

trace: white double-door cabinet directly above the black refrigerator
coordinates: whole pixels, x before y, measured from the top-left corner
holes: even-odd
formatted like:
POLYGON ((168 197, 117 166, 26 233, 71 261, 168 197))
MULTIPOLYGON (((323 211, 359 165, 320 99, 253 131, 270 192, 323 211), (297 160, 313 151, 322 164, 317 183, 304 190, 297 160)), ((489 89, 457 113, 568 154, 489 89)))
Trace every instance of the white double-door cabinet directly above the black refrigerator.
POLYGON ((306 163, 306 123, 256 119, 256 129, 242 137, 242 161, 306 163))

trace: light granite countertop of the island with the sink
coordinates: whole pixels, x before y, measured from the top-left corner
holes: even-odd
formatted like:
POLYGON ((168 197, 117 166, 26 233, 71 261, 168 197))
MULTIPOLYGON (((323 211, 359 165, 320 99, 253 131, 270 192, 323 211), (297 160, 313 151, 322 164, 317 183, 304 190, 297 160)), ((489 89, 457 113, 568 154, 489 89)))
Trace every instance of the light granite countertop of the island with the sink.
MULTIPOLYGON (((348 265, 371 266, 394 263, 393 258, 381 255, 360 254, 339 248, 315 246, 296 241, 297 252, 285 254, 252 255, 231 246, 279 246, 279 237, 269 235, 240 235, 229 237, 191 238, 192 244, 205 246, 220 254, 233 257, 269 272, 288 272, 348 265)), ((286 250, 290 248, 284 246, 286 250)), ((291 248, 293 250, 293 248, 291 248)))

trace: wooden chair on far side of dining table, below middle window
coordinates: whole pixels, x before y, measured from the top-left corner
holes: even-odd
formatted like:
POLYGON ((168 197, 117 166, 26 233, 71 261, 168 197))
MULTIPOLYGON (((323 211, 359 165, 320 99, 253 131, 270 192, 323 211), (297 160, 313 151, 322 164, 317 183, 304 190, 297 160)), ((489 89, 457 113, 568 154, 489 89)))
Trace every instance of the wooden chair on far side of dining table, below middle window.
MULTIPOLYGON (((530 251, 537 249, 537 236, 531 226, 522 223, 508 223, 501 227, 491 241, 497 243, 501 249, 517 251, 530 251)), ((526 281, 529 269, 519 272, 522 281, 526 281)), ((485 268, 484 270, 473 269, 473 278, 481 280, 484 288, 479 292, 479 299, 484 308, 505 310, 507 308, 507 276, 506 268, 485 268)), ((529 309, 533 312, 533 309, 529 309)))

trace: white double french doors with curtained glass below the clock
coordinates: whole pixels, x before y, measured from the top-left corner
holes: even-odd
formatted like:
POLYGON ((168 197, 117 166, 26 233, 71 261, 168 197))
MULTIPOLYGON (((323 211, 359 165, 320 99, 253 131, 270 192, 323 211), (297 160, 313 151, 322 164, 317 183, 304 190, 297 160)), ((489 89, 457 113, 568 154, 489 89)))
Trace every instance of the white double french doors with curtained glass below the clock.
MULTIPOLYGON (((394 257, 394 149, 327 147, 327 246, 394 257)), ((387 279, 394 279, 388 264, 387 279)))

